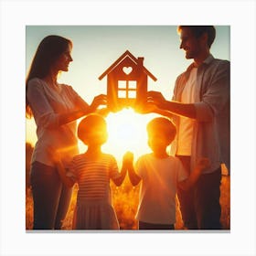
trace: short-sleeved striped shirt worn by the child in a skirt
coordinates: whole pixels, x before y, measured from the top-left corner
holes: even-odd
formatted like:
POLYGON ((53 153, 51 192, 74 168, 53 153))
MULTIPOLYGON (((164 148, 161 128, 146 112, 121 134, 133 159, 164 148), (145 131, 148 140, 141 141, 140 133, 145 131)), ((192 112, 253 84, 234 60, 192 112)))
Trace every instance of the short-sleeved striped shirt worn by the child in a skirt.
POLYGON ((120 176, 115 158, 101 154, 91 160, 85 154, 73 157, 67 176, 79 185, 79 200, 108 200, 111 202, 110 179, 120 176))

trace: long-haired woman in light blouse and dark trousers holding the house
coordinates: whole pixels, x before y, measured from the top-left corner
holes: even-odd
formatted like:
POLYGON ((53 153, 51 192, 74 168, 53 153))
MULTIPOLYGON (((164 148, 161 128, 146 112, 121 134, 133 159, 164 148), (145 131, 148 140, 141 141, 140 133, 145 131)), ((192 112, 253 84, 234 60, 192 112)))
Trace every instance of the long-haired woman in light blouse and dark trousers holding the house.
POLYGON ((95 112, 106 103, 96 96, 91 105, 66 84, 59 84, 59 72, 69 70, 72 42, 64 37, 45 37, 37 48, 26 81, 26 115, 34 116, 37 144, 31 160, 34 200, 33 229, 61 229, 72 188, 63 186, 53 161, 52 150, 60 153, 65 165, 78 154, 76 120, 95 112))

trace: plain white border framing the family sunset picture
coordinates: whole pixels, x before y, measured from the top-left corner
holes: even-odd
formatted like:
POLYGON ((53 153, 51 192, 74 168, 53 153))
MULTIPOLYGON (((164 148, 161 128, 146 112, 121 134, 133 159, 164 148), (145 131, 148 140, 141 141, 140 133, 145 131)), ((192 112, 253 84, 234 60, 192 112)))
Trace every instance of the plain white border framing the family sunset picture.
POLYGON ((1 255, 255 255, 254 1, 1 1, 1 255), (231 26, 230 233, 26 233, 26 25, 231 26), (22 97, 21 97, 22 96, 22 97), (25 98, 24 98, 25 99, 25 98))

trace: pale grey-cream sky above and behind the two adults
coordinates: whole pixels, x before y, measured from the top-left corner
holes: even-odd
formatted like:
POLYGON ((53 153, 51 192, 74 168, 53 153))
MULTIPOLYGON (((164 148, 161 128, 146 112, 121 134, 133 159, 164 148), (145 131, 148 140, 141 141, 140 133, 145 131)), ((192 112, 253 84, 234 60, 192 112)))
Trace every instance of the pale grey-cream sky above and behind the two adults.
MULTIPOLYGON (((217 26, 211 52, 219 59, 230 59, 230 27, 217 26)), ((172 96, 177 75, 192 61, 179 48, 176 26, 27 26, 26 73, 39 42, 48 35, 68 37, 73 42, 69 71, 59 81, 67 83, 87 102, 106 93, 107 80, 99 76, 126 50, 135 58, 144 57, 144 67, 155 75, 148 79, 148 90, 172 96)), ((27 120, 27 142, 35 144, 36 126, 27 120)))

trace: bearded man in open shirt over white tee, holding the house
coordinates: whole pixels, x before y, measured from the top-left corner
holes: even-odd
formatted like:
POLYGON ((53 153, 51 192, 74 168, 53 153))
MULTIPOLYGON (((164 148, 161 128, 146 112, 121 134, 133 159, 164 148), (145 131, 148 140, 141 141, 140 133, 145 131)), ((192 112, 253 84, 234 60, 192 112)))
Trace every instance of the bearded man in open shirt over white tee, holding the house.
POLYGON ((221 229, 219 205, 221 164, 229 168, 229 61, 214 59, 210 47, 216 35, 213 26, 179 26, 180 48, 193 63, 176 79, 173 101, 160 92, 149 91, 148 100, 167 112, 176 123, 172 146, 186 166, 193 170, 199 157, 211 165, 192 191, 178 191, 181 213, 187 229, 221 229))

